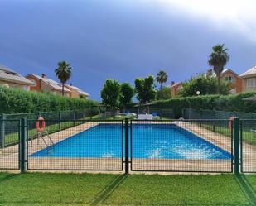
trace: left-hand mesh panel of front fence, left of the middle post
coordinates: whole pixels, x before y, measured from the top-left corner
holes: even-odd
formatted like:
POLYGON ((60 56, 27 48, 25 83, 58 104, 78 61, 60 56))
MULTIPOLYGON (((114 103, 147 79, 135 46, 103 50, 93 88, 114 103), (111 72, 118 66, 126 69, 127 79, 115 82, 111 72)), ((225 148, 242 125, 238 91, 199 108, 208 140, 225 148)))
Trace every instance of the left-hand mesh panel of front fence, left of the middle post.
POLYGON ((27 120, 27 170, 123 170, 123 121, 27 120))

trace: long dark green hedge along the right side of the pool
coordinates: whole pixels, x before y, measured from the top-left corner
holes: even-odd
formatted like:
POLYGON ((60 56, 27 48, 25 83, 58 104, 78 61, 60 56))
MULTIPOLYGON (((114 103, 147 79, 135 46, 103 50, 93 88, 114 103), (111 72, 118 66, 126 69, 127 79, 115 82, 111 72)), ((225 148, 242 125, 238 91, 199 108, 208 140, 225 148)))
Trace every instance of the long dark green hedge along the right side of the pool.
POLYGON ((215 109, 244 113, 256 113, 256 103, 244 101, 256 95, 252 93, 238 93, 235 95, 201 95, 198 97, 171 98, 169 100, 155 101, 152 108, 172 108, 175 117, 182 116, 182 108, 215 109))

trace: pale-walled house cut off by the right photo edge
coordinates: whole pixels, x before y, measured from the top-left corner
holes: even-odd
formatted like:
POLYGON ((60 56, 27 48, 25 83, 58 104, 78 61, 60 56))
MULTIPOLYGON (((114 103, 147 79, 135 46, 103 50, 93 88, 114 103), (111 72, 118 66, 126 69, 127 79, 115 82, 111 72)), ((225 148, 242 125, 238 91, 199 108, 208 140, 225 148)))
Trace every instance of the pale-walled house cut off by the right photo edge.
POLYGON ((240 77, 243 80, 243 92, 256 91, 256 65, 241 74, 240 77))

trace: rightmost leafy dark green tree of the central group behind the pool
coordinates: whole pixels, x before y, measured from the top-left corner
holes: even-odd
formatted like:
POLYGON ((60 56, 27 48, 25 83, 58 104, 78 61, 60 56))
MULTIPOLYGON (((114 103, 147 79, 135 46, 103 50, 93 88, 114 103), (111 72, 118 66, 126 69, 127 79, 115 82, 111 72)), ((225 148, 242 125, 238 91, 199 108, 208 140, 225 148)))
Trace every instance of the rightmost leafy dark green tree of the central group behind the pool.
POLYGON ((156 98, 156 89, 154 84, 154 77, 147 76, 145 79, 135 79, 135 92, 140 104, 148 103, 156 98))

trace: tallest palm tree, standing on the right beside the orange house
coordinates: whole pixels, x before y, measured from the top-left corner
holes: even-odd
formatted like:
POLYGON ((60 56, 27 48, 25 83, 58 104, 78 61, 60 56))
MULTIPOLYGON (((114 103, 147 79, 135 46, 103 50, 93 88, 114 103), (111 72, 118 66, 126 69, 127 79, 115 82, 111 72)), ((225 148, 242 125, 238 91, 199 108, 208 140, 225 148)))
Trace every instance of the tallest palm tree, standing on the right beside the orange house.
POLYGON ((224 69, 224 66, 229 61, 229 54, 227 53, 227 48, 224 48, 224 44, 216 45, 212 47, 212 53, 208 60, 208 64, 213 66, 215 74, 218 78, 218 88, 217 93, 220 93, 220 74, 224 69))

